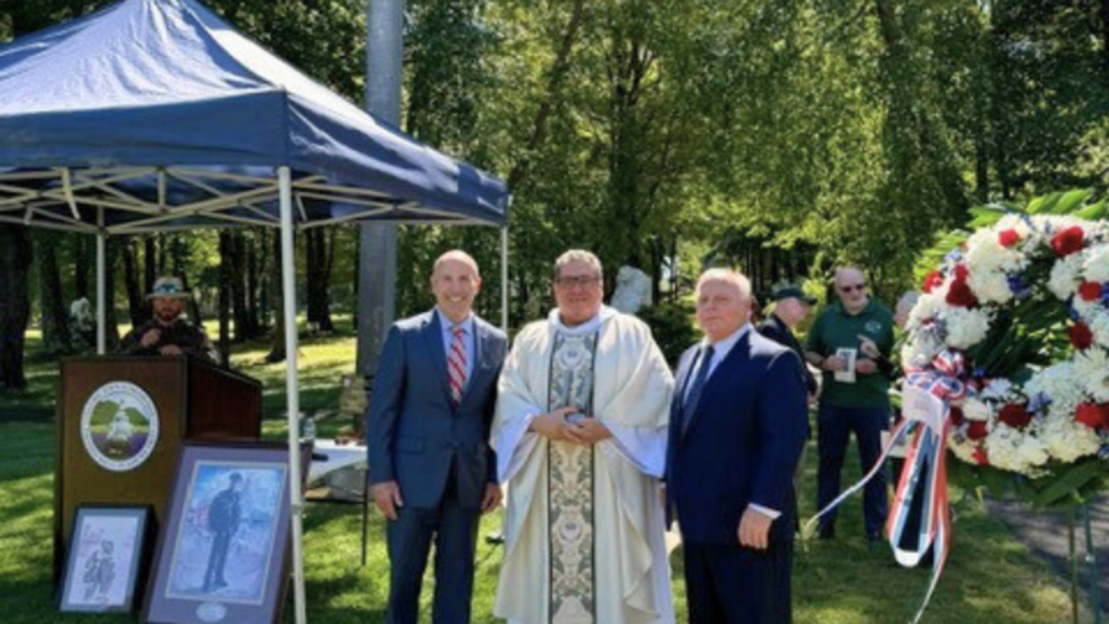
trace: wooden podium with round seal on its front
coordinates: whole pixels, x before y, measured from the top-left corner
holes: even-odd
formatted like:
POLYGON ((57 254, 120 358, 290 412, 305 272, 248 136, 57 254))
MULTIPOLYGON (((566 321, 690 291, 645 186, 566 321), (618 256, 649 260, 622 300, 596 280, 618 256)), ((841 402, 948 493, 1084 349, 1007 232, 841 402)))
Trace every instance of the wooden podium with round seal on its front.
POLYGON ((195 358, 62 360, 55 583, 78 505, 151 505, 162 522, 182 440, 257 440, 261 427, 262 383, 195 358))

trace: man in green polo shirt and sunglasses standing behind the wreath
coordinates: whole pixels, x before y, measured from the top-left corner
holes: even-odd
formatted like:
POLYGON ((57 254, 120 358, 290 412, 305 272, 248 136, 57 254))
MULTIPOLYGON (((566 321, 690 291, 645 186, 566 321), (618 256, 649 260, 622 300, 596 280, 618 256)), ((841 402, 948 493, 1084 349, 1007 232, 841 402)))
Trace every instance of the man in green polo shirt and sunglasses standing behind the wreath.
MULTIPOLYGON (((835 291, 840 300, 821 311, 805 344, 805 358, 823 371, 824 379, 816 416, 818 509, 840 495, 840 473, 851 432, 855 432, 858 459, 866 471, 882 453, 882 431, 889 429, 888 374, 861 346, 869 340, 888 358, 894 345, 893 315, 867 295, 863 272, 855 267, 836 270, 835 291)), ((868 540, 882 540, 886 510, 886 474, 882 470, 863 491, 868 540)), ((834 535, 832 511, 821 521, 820 536, 834 535)))

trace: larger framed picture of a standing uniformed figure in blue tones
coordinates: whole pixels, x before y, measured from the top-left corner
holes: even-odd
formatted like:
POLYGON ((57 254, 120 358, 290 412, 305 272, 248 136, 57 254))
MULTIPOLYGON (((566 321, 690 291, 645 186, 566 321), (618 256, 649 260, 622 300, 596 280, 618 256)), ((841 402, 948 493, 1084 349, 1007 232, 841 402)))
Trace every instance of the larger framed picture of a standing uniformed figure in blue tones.
MULTIPOLYGON (((308 461, 311 451, 302 458, 308 461)), ((288 473, 285 446, 181 448, 144 622, 278 621, 289 550, 288 473)))

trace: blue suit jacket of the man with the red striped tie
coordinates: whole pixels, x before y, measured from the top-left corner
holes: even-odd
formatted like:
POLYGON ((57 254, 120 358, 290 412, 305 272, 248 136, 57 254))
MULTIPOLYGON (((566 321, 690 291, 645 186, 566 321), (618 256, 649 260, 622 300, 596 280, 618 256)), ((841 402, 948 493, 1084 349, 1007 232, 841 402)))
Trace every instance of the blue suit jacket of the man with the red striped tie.
POLYGON ((497 480, 489 427, 507 340, 477 315, 474 326, 475 361, 457 410, 434 310, 397 321, 385 340, 366 422, 369 482, 397 481, 405 505, 436 507, 451 468, 464 505, 480 507, 497 480))

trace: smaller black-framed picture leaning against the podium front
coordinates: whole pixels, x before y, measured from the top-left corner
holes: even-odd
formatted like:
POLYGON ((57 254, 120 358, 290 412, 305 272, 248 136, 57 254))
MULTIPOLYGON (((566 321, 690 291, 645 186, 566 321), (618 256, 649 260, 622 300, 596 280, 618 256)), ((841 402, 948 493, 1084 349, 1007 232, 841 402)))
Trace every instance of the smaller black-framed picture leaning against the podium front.
POLYGON ((73 516, 59 610, 132 611, 146 571, 151 509, 80 505, 73 516))

